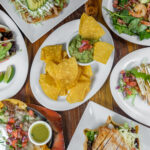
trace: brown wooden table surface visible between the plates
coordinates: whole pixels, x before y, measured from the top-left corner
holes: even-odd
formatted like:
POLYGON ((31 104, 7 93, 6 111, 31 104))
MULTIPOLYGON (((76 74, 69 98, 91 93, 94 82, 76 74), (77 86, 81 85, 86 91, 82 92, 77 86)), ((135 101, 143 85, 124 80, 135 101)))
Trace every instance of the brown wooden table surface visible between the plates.
MULTIPOLYGON (((101 5, 101 0, 99 0, 99 6, 101 5)), ((101 7, 99 7, 101 8, 101 7)), ((3 8, 0 6, 0 9, 3 10, 3 8)), ((34 59, 34 56, 37 52, 37 50, 39 49, 39 47, 41 46, 41 44, 44 42, 44 40, 58 27, 60 27, 61 25, 65 24, 66 22, 69 22, 71 20, 74 19, 79 19, 81 14, 84 12, 84 6, 82 6, 81 8, 79 8, 78 10, 76 10, 73 14, 71 14, 69 17, 67 17, 65 20, 63 20, 59 25, 57 25, 54 29, 52 29, 51 31, 49 31, 47 34, 45 34, 42 38, 40 38, 38 41, 36 41, 35 43, 30 43, 30 41, 24 36, 24 40, 27 46, 27 50, 28 50, 28 55, 29 55, 29 71, 28 71, 28 77, 27 80, 23 86, 23 88, 20 90, 20 92, 15 95, 13 98, 17 98, 20 99, 24 102, 27 103, 33 103, 33 104, 38 104, 40 105, 36 99, 34 98, 32 92, 31 92, 31 88, 30 88, 30 81, 29 81, 29 77, 30 77, 30 68, 32 65, 32 61, 34 59)), ((98 16, 98 20, 100 22, 102 22, 107 28, 108 26, 105 24, 102 15, 101 15, 101 10, 99 11, 99 16, 98 16)), ((109 28, 108 28, 109 29, 109 28)), ((110 31, 111 32, 111 31, 110 31)), ((139 45, 135 45, 132 43, 129 43, 123 39, 121 39, 120 37, 116 36, 113 32, 111 32, 114 43, 115 43, 115 60, 114 60, 114 64, 113 66, 122 58, 124 57, 126 54, 142 48, 142 46, 139 45)), ((109 87, 109 77, 107 79, 107 81, 105 82, 104 86, 91 98, 92 101, 103 105, 106 108, 109 108, 111 110, 114 110, 115 112, 118 112, 119 114, 122 114, 124 116, 127 116, 115 103, 111 92, 110 92, 110 87, 109 87)), ((59 112, 62 116, 63 119, 63 129, 64 129, 64 138, 65 138, 65 144, 66 144, 66 148, 69 144, 69 141, 71 140, 71 137, 80 121, 80 118, 83 114, 83 111, 86 107, 88 102, 86 102, 85 104, 81 105, 80 107, 77 107, 73 110, 69 110, 69 111, 65 111, 65 112, 59 112)), ((101 115, 101 114, 99 114, 101 115)), ((127 116, 128 117, 128 116, 127 116)))

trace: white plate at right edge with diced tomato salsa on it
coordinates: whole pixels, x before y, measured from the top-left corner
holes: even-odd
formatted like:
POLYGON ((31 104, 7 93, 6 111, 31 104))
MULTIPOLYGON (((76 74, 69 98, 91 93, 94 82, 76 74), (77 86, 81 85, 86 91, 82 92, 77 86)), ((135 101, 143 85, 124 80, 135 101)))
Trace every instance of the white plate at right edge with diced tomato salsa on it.
POLYGON ((122 93, 116 89, 119 84, 120 71, 129 70, 142 62, 150 64, 150 48, 137 50, 122 58, 111 73, 110 88, 116 103, 125 113, 135 120, 150 126, 150 106, 140 96, 136 97, 135 104, 132 105, 132 100, 124 100, 122 93))

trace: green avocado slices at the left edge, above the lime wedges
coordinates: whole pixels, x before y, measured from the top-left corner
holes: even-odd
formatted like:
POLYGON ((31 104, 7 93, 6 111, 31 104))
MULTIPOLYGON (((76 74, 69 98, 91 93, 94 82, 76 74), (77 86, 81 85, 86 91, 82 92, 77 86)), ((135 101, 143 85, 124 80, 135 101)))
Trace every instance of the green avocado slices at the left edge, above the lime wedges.
POLYGON ((12 43, 9 42, 6 45, 0 44, 0 60, 7 56, 7 52, 11 49, 12 43))

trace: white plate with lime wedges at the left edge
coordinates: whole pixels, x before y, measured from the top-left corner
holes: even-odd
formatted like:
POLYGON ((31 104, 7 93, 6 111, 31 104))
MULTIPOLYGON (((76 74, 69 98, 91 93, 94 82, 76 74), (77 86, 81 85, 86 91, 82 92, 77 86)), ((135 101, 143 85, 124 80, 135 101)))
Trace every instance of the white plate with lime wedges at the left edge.
POLYGON ((0 23, 8 26, 13 32, 18 49, 16 55, 0 63, 0 72, 6 71, 9 65, 15 66, 15 76, 12 81, 8 84, 0 83, 0 100, 3 100, 16 95, 25 83, 28 73, 28 55, 24 39, 19 29, 3 11, 0 11, 0 23))

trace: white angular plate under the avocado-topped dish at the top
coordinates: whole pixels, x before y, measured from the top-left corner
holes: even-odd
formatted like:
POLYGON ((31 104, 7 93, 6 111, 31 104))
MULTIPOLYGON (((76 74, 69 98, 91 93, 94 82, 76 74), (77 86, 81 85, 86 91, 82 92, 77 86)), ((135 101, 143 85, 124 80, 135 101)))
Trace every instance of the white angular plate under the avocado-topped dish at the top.
POLYGON ((39 24, 26 23, 22 19, 21 15, 16 11, 14 4, 10 1, 11 0, 0 0, 0 4, 5 8, 26 37, 33 43, 82 6, 87 0, 69 0, 69 5, 63 9, 58 17, 43 21, 39 24))

